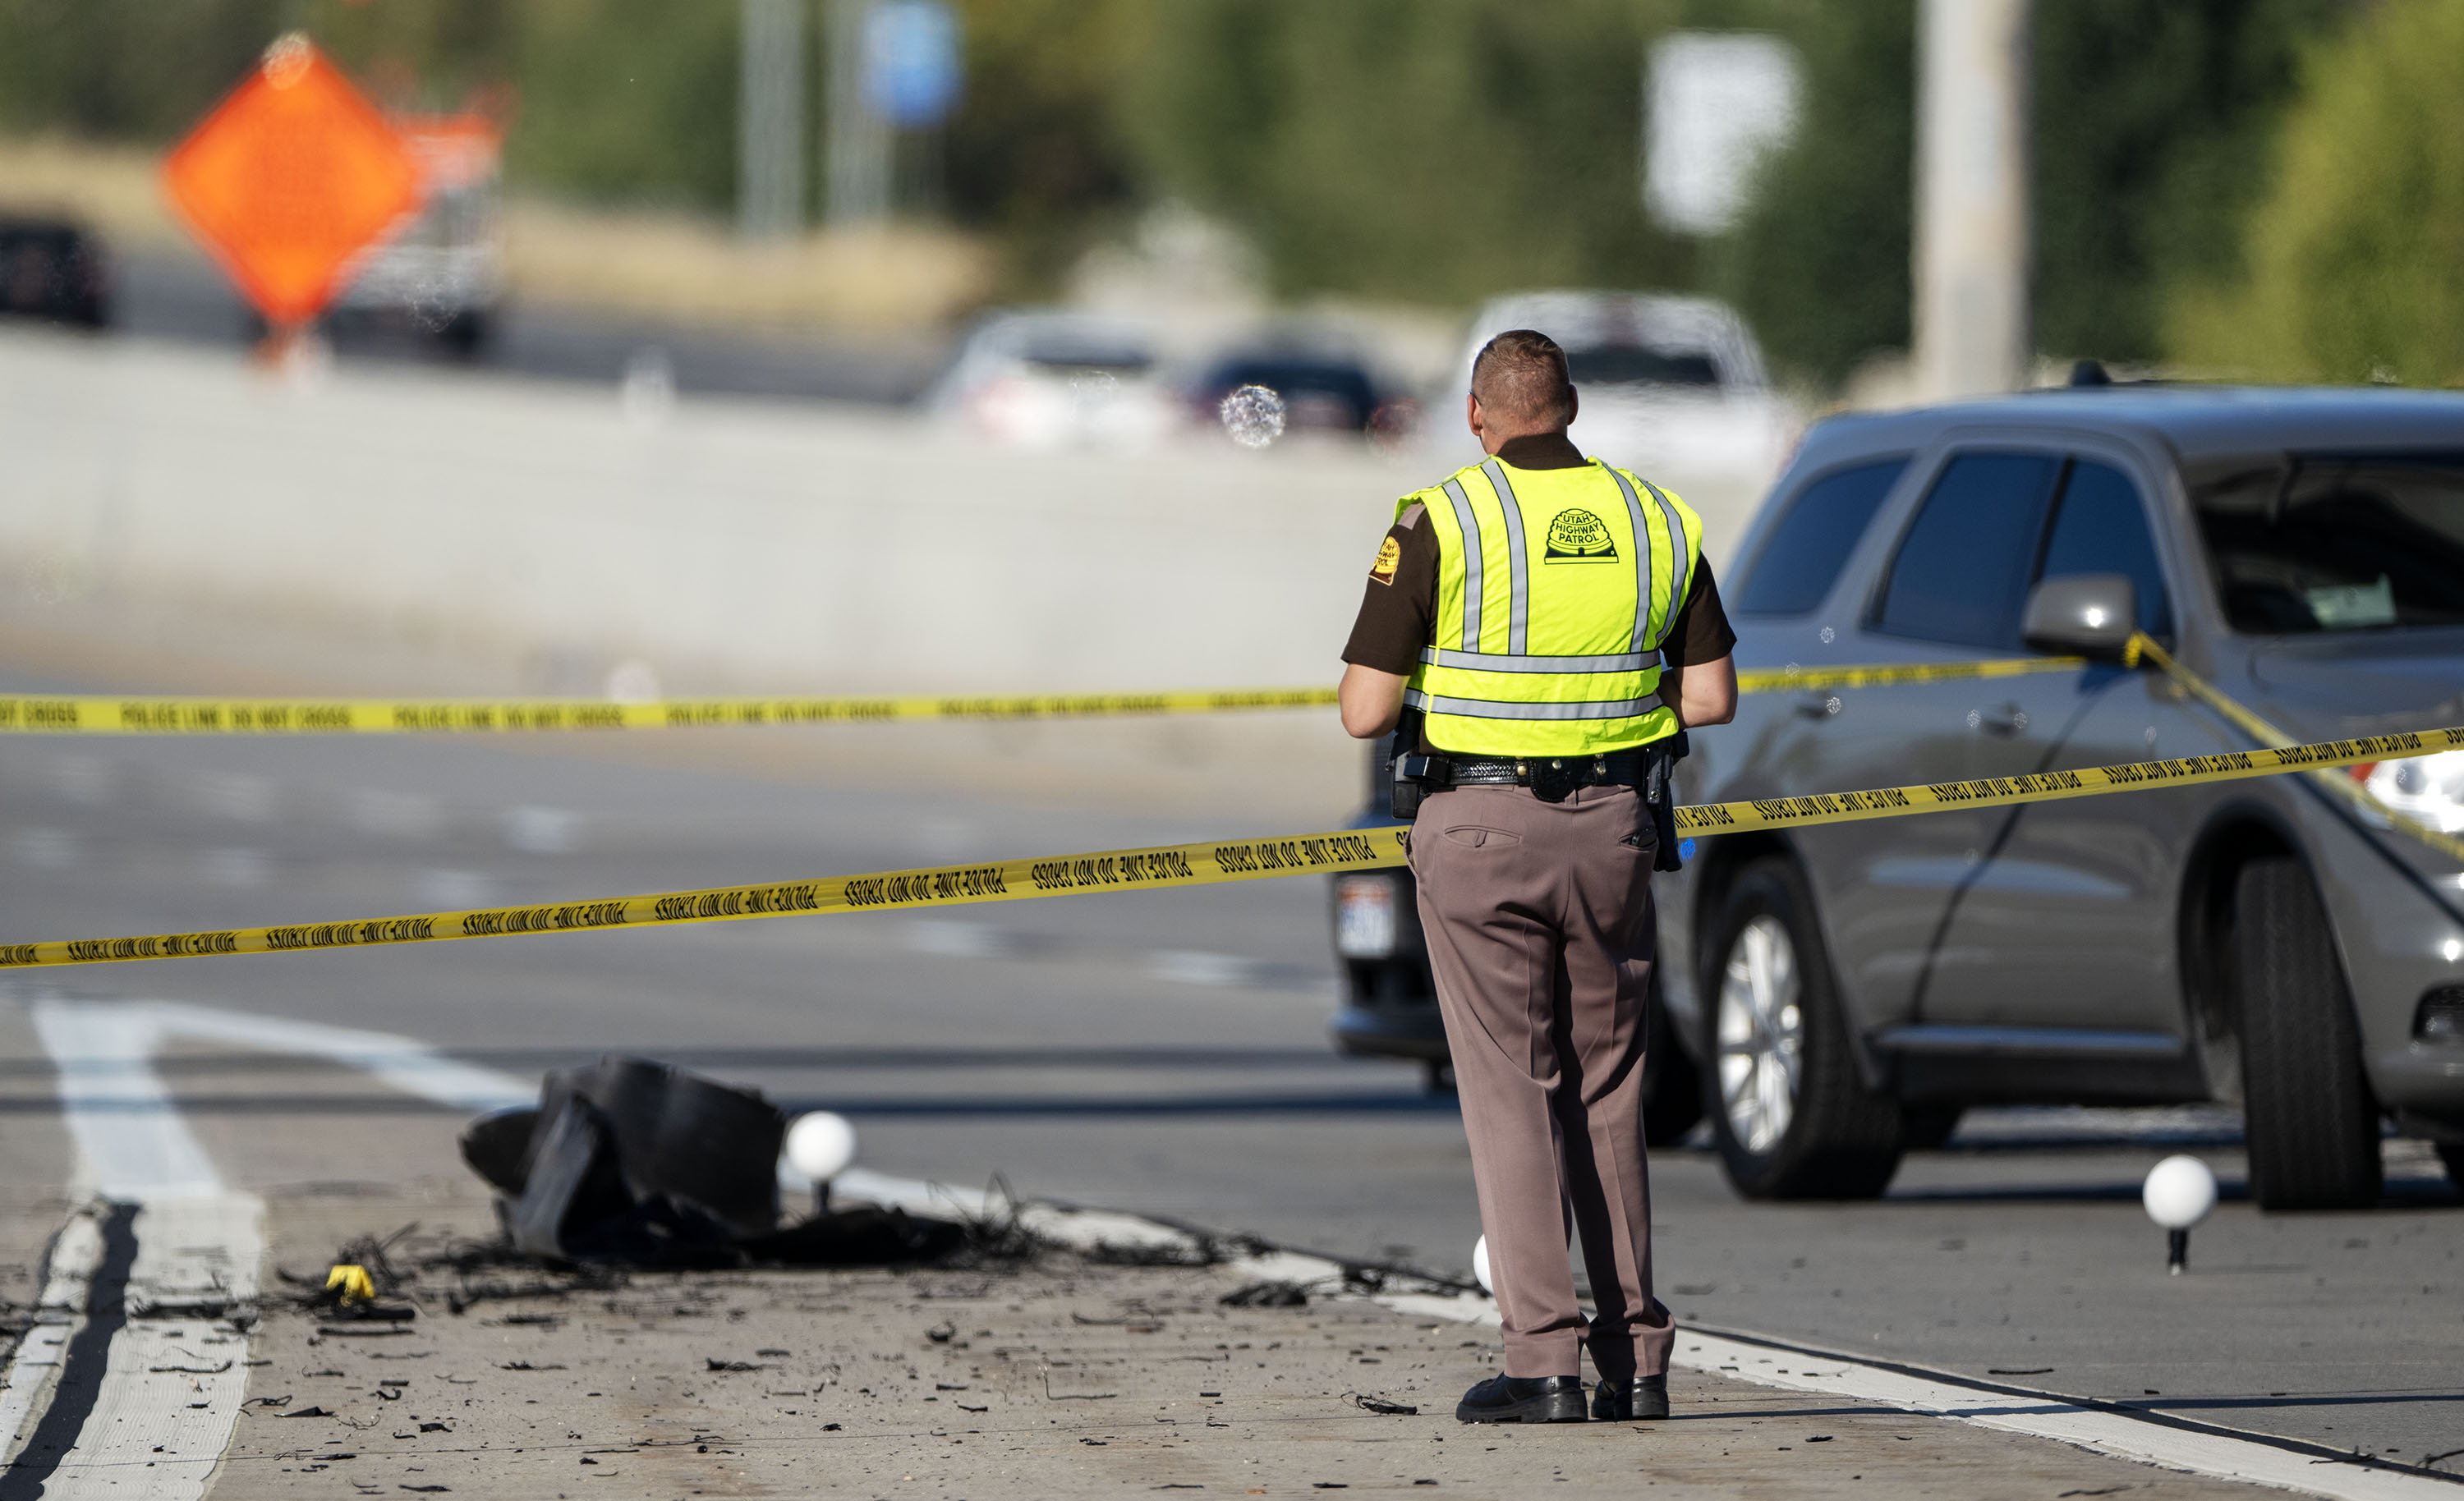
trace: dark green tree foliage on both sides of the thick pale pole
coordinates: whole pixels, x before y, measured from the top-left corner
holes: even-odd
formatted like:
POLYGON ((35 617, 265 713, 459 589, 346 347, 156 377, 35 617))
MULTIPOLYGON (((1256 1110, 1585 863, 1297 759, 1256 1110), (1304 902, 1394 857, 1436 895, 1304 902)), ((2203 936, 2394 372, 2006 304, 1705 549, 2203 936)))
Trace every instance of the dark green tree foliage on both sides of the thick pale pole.
MULTIPOLYGON (((2296 57, 2343 0, 2045 0, 2033 22, 2035 343, 2149 360, 2166 286, 2230 261, 2296 57)), ((1796 140, 1715 259, 1774 357, 1838 380, 1907 348, 1912 0, 1784 25, 1806 57, 1796 140)))

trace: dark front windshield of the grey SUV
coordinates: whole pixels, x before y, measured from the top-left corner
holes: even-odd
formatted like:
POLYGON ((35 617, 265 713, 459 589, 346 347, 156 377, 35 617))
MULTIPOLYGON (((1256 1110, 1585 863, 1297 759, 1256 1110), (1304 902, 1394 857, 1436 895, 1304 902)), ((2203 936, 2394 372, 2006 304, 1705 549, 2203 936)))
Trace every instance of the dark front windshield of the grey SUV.
POLYGON ((2464 454, 2255 454, 2183 478, 2235 631, 2464 624, 2464 454))

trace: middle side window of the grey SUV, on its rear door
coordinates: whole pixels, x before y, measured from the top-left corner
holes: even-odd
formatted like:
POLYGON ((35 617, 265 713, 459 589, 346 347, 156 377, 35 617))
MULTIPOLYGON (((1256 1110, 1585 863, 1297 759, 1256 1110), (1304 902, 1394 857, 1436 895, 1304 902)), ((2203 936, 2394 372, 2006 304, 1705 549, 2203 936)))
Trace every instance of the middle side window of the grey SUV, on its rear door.
POLYGON ((1890 559, 1875 626, 1924 641, 2018 648, 2028 574, 2060 471, 2053 454, 1951 458, 1890 559))

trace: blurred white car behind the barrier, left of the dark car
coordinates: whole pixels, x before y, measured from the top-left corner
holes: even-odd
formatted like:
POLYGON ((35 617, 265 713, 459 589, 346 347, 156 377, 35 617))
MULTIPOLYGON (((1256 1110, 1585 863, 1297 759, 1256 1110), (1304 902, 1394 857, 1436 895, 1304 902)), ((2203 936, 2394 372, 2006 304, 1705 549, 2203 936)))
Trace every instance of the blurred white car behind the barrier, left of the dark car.
POLYGON ((1153 335, 1124 318, 1069 311, 983 318, 924 409, 1027 449, 1136 449, 1180 421, 1153 335))

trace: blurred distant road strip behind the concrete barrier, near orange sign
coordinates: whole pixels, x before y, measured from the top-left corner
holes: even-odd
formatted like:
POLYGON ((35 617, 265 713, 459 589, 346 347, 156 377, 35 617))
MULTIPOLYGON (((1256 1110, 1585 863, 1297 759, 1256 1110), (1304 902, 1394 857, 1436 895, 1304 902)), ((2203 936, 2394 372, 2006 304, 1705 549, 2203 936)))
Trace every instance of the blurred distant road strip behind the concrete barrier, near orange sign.
MULTIPOLYGON (((180 343, 244 345, 256 338, 232 283, 192 254, 118 251, 113 333, 180 343)), ((458 362, 409 330, 333 335, 342 360, 458 362)), ((912 402, 941 365, 929 338, 727 330, 655 318, 510 301, 473 365, 508 375, 614 384, 626 365, 655 352, 675 389, 727 397, 912 402)))

